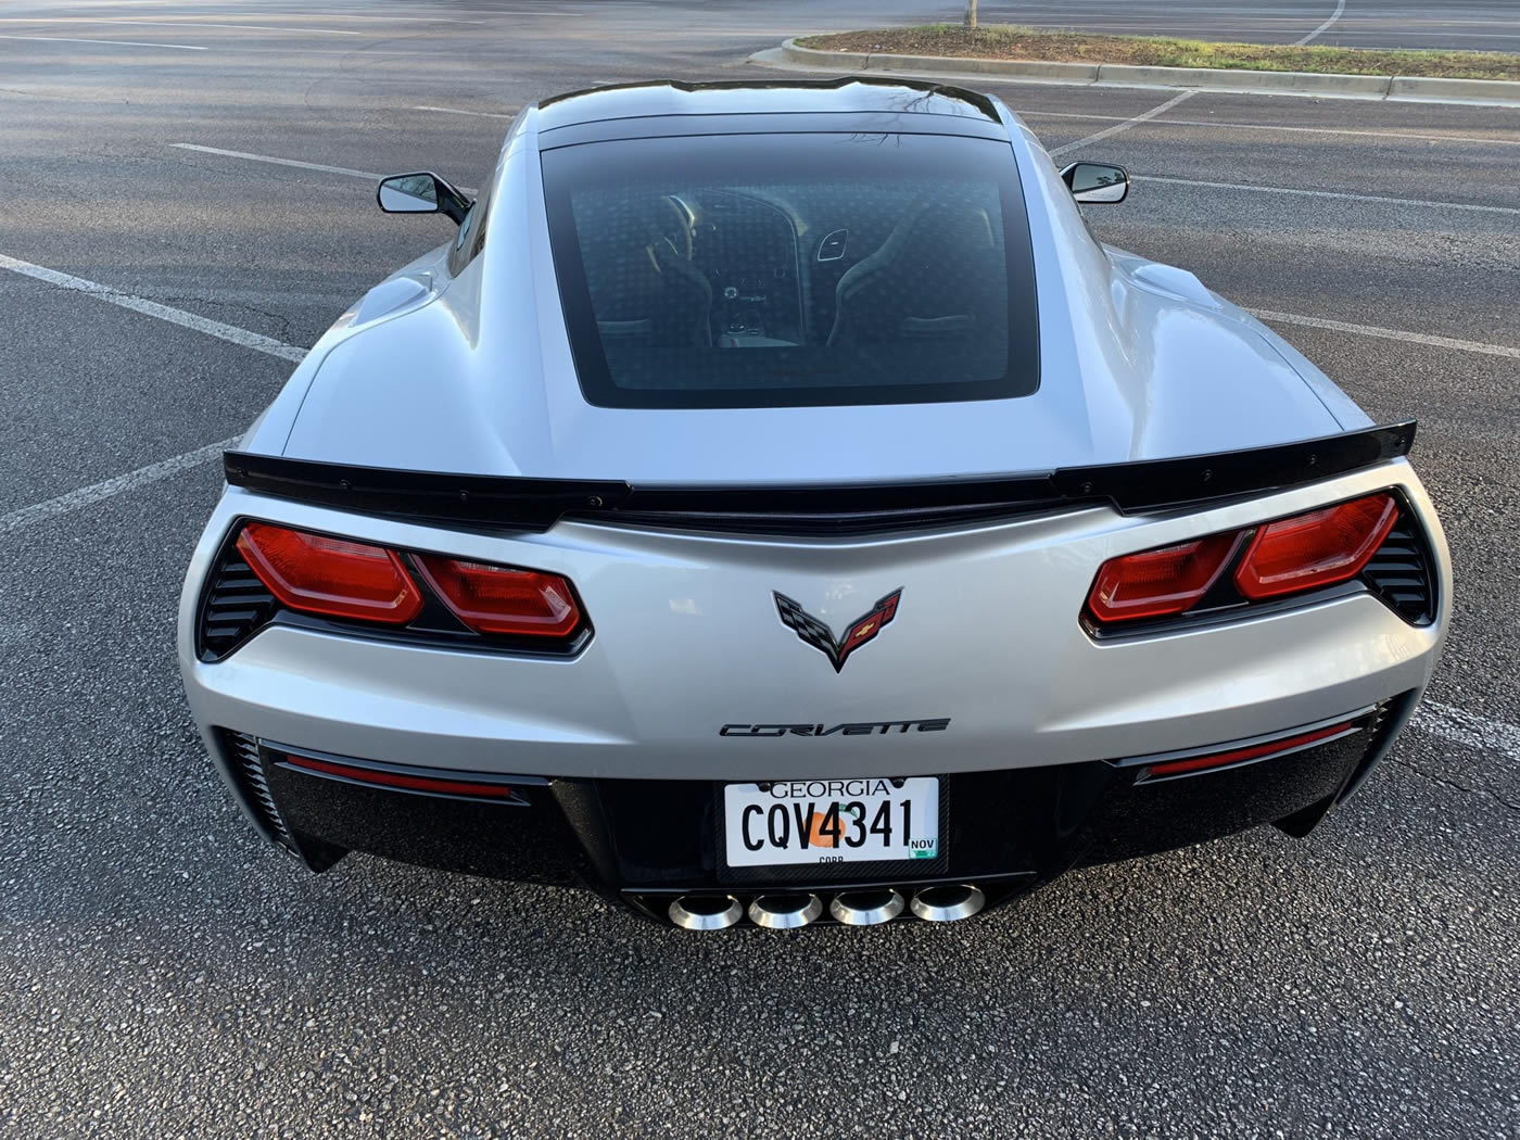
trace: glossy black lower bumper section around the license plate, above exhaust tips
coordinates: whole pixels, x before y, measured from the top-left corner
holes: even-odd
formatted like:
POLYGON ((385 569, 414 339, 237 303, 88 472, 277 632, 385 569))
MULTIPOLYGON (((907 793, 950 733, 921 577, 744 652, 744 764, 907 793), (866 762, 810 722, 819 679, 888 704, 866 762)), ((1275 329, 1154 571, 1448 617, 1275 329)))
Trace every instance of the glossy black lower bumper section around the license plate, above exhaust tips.
MULTIPOLYGON (((509 803, 424 795, 315 775, 281 745, 214 730, 243 807, 313 869, 350 850, 448 871, 588 886, 664 921, 670 900, 775 891, 827 900, 844 889, 973 883, 1005 901, 1062 871, 1216 839, 1274 822, 1307 833, 1389 746, 1415 701, 1404 693, 1348 717, 1338 739, 1287 754, 1151 780, 1116 758, 941 777, 945 862, 918 877, 850 865, 727 868, 719 781, 517 777, 509 803)), ((1286 727, 1284 727, 1286 728, 1286 727)), ((1231 742, 1221 742, 1221 748, 1231 742)), ((825 912, 827 914, 827 912, 825 912)))

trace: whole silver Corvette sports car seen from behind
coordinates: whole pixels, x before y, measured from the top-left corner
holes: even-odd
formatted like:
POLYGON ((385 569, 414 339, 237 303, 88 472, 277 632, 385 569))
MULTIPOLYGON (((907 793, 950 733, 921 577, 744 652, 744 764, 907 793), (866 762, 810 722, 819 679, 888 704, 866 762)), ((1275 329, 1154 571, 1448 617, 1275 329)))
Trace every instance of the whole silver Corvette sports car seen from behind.
POLYGON ((179 658, 248 818, 720 929, 955 920, 1307 833, 1408 724, 1406 461, 1003 103, 640 84, 512 123, 458 237, 226 453, 179 658))

